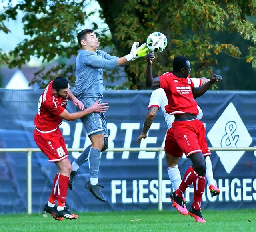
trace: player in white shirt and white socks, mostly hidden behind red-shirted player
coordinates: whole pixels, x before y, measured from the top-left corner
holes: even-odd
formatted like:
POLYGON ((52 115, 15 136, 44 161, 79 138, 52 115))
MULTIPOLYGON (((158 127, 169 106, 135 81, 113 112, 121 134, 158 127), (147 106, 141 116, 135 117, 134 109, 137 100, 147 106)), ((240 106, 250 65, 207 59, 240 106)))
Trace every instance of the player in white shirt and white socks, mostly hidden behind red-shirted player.
MULTIPOLYGON (((206 82, 210 81, 205 77, 191 78, 191 80, 193 81, 195 87, 200 87, 201 85, 204 85, 206 82)), ((168 176, 170 178, 172 187, 174 188, 174 190, 176 190, 181 183, 181 176, 180 176, 180 170, 178 167, 178 161, 180 160, 180 157, 182 157, 183 151, 182 149, 180 149, 179 145, 177 144, 173 134, 172 123, 174 121, 174 115, 170 115, 166 113, 166 110, 165 110, 166 105, 168 105, 168 100, 164 92, 164 89, 158 88, 152 91, 150 96, 150 101, 148 104, 148 113, 144 121, 142 133, 138 137, 137 143, 140 144, 140 141, 142 139, 146 139, 148 130, 150 129, 154 121, 154 118, 156 117, 156 113, 158 112, 159 109, 161 109, 164 115, 167 128, 168 128, 168 131, 166 133, 165 146, 164 146, 166 162, 168 165, 167 166, 168 176)), ((203 112, 199 106, 198 106, 198 111, 199 111, 199 114, 197 115, 197 117, 198 119, 201 119, 203 117, 203 112)), ((210 156, 205 157, 205 163, 206 163, 206 180, 210 189, 210 193, 212 194, 212 196, 217 196, 218 194, 220 194, 220 189, 217 187, 217 183, 213 177, 212 161, 210 159, 210 156)))

